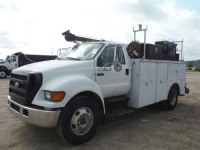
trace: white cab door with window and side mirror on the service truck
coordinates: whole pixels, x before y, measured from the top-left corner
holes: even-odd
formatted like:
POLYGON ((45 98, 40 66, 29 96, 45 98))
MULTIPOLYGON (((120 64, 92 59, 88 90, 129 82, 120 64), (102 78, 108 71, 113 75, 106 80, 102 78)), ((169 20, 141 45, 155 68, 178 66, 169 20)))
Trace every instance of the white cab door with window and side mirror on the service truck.
POLYGON ((96 61, 96 82, 104 98, 126 95, 131 87, 131 73, 121 45, 108 45, 96 61))

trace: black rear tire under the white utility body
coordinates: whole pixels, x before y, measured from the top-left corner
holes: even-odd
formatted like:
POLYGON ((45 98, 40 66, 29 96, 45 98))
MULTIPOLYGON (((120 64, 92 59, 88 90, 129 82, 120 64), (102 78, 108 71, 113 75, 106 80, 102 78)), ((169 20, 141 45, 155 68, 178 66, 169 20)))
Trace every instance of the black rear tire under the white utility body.
POLYGON ((176 107, 178 101, 178 88, 173 86, 168 94, 168 99, 162 102, 162 106, 165 110, 173 110, 176 107))

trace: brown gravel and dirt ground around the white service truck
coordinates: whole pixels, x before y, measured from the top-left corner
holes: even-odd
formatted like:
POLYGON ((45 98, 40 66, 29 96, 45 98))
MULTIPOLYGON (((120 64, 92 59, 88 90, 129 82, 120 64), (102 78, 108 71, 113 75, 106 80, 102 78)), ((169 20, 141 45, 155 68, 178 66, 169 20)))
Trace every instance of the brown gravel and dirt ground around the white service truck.
POLYGON ((9 78, 0 79, 0 150, 200 149, 200 73, 187 73, 190 94, 173 111, 156 105, 107 119, 88 143, 72 146, 55 129, 28 125, 9 113, 9 78))

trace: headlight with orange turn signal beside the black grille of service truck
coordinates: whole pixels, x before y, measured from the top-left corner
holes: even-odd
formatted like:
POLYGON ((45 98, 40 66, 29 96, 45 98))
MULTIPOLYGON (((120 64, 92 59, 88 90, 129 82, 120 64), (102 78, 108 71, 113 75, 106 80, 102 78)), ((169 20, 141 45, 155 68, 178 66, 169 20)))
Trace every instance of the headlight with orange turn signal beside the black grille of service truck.
POLYGON ((65 92, 63 91, 45 91, 44 97, 46 100, 52 102, 60 102, 65 97, 65 92))

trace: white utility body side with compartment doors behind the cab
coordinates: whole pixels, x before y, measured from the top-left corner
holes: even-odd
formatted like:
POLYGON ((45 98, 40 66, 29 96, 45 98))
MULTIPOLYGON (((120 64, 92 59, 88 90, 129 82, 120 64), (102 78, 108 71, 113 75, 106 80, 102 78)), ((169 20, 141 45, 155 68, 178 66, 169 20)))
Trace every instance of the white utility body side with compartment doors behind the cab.
POLYGON ((140 108, 166 100, 174 83, 179 85, 180 95, 184 94, 184 62, 143 59, 131 61, 132 87, 128 106, 140 108))

